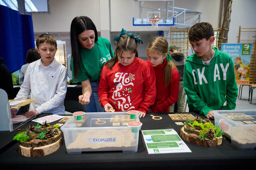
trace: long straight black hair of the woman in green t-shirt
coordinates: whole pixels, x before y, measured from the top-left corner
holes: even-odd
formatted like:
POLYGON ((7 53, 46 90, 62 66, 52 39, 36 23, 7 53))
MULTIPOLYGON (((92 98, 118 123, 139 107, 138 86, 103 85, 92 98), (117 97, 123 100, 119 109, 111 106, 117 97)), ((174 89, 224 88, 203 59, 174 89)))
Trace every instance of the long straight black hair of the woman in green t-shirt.
POLYGON ((77 79, 78 70, 80 71, 80 62, 81 60, 81 48, 82 45, 78 41, 77 37, 80 33, 85 30, 93 30, 95 34, 94 42, 98 41, 98 32, 92 22, 92 20, 86 16, 75 17, 70 26, 70 41, 71 41, 71 55, 73 59, 73 72, 74 77, 77 79))

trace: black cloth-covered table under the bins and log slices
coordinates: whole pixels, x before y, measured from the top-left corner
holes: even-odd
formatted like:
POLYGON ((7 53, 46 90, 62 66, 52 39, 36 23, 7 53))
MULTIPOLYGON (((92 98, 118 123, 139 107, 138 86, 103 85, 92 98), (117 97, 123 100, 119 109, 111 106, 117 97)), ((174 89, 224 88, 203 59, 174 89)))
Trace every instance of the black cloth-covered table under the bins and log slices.
MULTIPOLYGON (((193 115, 198 115, 192 113, 193 115)), ((163 117, 161 120, 153 120, 150 114, 140 118, 143 123, 141 130, 169 129, 173 128, 180 134, 181 125, 176 125, 167 113, 153 113, 163 117)), ((44 115, 40 115, 44 116, 44 115)), ((202 115, 198 115, 204 118, 202 115)), ((55 124, 56 122, 50 123, 55 124)), ((182 121, 183 122, 183 121, 182 121)), ((30 121, 23 125, 36 125, 30 121)), ((16 131, 12 132, 13 136, 16 131)), ((10 140, 0 134, 2 140, 10 140)), ((10 135, 9 135, 10 136, 10 135)), ((12 137, 13 137, 12 136, 12 137)), ((222 145, 216 147, 200 147, 185 141, 191 153, 172 154, 148 154, 143 144, 142 137, 139 137, 138 152, 123 153, 122 151, 111 152, 82 152, 82 154, 67 154, 65 143, 56 152, 38 157, 25 157, 18 153, 18 143, 0 154, 0 165, 8 165, 9 168, 18 169, 198 169, 204 168, 245 168, 254 166, 256 150, 238 150, 233 147, 229 139, 223 139, 222 145)))

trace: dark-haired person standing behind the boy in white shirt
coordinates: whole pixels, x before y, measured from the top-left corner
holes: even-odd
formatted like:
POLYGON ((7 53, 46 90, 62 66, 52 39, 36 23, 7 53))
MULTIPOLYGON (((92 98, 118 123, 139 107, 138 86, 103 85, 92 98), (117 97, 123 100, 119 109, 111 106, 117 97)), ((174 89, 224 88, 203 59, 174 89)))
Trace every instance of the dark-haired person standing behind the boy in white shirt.
POLYGON ((26 73, 26 70, 28 68, 28 65, 34 61, 37 61, 41 59, 40 54, 37 52, 36 49, 29 49, 27 52, 27 56, 26 56, 26 64, 24 64, 23 66, 21 66, 20 68, 20 76, 19 76, 19 84, 22 85, 23 80, 24 80, 24 76, 26 73))

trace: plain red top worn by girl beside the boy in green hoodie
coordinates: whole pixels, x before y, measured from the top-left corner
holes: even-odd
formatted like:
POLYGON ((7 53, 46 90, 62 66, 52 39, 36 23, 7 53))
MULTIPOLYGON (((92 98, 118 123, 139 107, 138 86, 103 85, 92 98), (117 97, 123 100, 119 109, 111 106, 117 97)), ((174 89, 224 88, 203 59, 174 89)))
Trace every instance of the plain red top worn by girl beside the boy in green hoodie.
MULTIPOLYGON (((147 63, 151 64, 150 61, 147 63)), ((180 76, 176 68, 172 70, 172 80, 167 86, 164 85, 164 67, 166 66, 166 59, 164 63, 153 67, 156 74, 156 101, 152 106, 155 113, 169 112, 169 107, 177 102, 179 96, 180 76)))

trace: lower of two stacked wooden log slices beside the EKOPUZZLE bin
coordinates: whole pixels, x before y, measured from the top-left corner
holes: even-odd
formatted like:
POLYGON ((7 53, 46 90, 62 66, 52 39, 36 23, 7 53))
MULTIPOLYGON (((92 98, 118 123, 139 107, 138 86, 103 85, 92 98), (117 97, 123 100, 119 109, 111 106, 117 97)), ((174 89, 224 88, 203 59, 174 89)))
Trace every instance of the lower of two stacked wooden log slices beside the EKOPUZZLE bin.
POLYGON ((27 157, 40 157, 55 152, 60 148, 61 145, 63 145, 61 137, 55 143, 44 145, 41 147, 24 147, 19 144, 19 153, 27 157))

